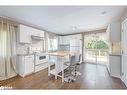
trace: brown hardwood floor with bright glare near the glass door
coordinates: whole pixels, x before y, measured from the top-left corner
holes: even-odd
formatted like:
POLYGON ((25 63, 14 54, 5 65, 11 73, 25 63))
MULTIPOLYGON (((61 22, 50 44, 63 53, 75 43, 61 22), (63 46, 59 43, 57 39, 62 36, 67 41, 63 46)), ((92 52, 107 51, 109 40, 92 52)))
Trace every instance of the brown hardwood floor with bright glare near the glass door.
POLYGON ((48 77, 48 70, 42 70, 25 78, 16 76, 1 81, 0 86, 13 87, 13 89, 126 89, 124 83, 109 76, 107 68, 103 65, 82 64, 82 76, 74 83, 62 83, 61 78, 55 80, 48 77))

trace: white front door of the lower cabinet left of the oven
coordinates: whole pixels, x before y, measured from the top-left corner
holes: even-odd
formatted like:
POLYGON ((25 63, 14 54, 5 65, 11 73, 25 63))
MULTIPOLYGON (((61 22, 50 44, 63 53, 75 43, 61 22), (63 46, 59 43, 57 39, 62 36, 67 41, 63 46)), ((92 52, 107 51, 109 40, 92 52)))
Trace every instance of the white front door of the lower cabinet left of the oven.
POLYGON ((34 72, 34 57, 25 56, 24 60, 25 60, 25 75, 34 72))

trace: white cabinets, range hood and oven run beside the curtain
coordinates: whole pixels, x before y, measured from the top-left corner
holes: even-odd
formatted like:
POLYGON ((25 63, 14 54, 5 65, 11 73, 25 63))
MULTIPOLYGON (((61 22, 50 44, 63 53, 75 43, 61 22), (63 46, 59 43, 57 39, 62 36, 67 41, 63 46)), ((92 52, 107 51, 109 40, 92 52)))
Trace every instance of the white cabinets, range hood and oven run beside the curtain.
POLYGON ((25 77, 47 68, 46 33, 19 25, 17 33, 17 71, 25 77))

